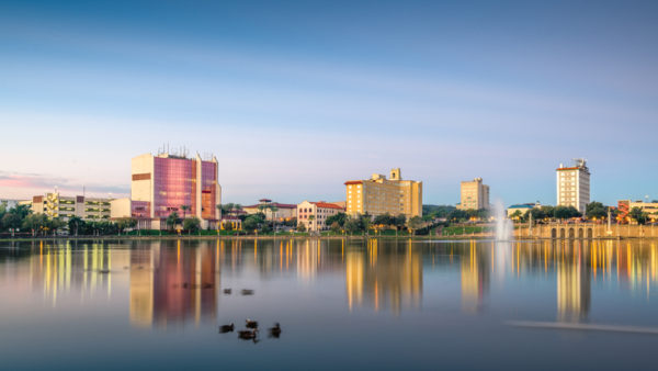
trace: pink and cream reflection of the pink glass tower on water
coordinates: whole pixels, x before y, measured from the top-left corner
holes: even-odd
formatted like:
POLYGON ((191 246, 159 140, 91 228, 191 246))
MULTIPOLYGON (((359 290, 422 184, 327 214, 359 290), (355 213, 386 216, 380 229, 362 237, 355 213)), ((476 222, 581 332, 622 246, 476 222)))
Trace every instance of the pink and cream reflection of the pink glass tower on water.
POLYGON ((131 250, 131 323, 168 327, 217 316, 216 249, 209 244, 157 241, 131 250))

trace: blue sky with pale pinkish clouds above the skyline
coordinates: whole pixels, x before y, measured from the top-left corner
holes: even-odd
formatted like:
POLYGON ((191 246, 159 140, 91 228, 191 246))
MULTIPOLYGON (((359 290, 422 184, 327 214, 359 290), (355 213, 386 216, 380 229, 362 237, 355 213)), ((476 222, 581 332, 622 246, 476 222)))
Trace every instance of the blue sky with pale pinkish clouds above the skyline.
POLYGON ((344 200, 401 168, 423 203, 476 177, 555 204, 658 199, 656 1, 0 2, 0 199, 129 194, 163 145, 223 201, 344 200))

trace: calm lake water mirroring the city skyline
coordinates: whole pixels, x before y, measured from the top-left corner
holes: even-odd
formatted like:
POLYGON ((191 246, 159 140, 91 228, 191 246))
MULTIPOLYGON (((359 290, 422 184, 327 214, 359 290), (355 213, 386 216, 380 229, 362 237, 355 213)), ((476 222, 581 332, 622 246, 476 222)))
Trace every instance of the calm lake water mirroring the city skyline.
POLYGON ((655 240, 0 243, 0 369, 650 369, 658 335, 510 322, 658 328, 657 269, 655 240))

